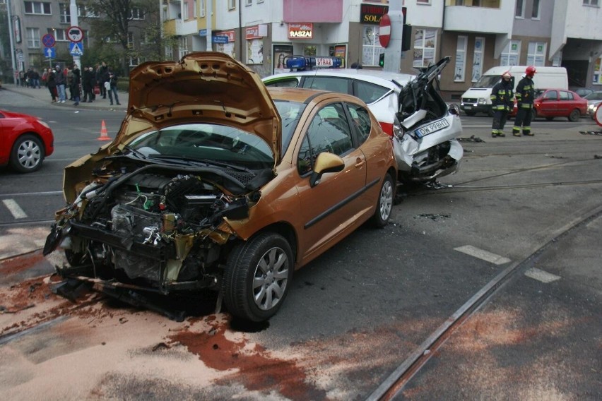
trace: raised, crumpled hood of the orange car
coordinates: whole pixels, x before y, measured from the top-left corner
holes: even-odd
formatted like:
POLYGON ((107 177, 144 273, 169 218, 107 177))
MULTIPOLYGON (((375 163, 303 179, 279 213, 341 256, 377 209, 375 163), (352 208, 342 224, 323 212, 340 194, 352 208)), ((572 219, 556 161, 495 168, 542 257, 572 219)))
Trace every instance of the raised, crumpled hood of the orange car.
POLYGON ((281 119, 258 74, 220 52, 180 61, 149 61, 130 73, 128 115, 112 145, 186 122, 235 126, 254 133, 280 160, 281 119))

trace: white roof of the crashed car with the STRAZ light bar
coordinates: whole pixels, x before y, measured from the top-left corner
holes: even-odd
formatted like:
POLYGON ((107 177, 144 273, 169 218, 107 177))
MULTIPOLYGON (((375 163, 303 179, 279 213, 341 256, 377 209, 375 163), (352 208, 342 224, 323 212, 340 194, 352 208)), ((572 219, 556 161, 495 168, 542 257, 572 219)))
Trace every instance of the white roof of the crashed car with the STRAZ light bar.
MULTIPOLYGON (((405 85, 409 80, 415 78, 415 75, 406 73, 394 73, 391 71, 365 70, 355 68, 324 68, 314 69, 311 71, 290 71, 287 73, 277 73, 271 76, 266 76, 262 80, 275 80, 278 78, 299 77, 299 76, 333 76, 340 78, 355 78, 365 80, 366 82, 375 83, 391 87, 391 82, 395 81, 400 85, 405 85)), ((397 87, 397 85, 394 85, 397 87)))

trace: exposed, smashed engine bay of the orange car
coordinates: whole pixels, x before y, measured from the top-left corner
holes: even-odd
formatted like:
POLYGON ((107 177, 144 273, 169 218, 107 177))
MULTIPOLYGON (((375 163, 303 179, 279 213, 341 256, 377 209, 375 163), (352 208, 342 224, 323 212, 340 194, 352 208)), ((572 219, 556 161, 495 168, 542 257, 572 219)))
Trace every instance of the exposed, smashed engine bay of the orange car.
POLYGON ((248 217, 260 196, 249 186, 261 174, 117 159, 79 184, 57 215, 44 253, 65 250, 70 266, 59 273, 165 294, 218 289, 224 250, 237 237, 225 219, 248 217))

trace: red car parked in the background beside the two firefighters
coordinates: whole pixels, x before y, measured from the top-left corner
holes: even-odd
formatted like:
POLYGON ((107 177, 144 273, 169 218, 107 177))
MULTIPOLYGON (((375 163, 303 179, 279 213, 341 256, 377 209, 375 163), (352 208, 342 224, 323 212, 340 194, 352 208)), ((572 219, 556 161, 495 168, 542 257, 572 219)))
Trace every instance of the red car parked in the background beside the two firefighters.
MULTIPOLYGON (((533 119, 545 117, 549 121, 554 117, 567 117, 569 121, 579 121, 579 118, 586 114, 587 100, 572 90, 545 89, 535 92, 533 119)), ((516 115, 517 102, 514 102, 514 109, 508 116, 516 115)))

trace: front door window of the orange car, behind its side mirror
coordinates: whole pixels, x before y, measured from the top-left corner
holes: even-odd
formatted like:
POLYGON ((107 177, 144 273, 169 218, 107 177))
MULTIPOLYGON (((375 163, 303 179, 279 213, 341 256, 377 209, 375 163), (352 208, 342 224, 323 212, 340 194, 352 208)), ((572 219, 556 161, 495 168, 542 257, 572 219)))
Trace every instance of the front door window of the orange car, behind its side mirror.
POLYGON ((331 152, 341 156, 352 149, 351 128, 343 104, 329 104, 314 115, 305 133, 297 156, 299 174, 305 175, 311 172, 321 152, 331 152))

